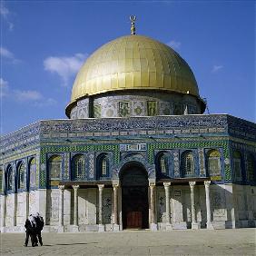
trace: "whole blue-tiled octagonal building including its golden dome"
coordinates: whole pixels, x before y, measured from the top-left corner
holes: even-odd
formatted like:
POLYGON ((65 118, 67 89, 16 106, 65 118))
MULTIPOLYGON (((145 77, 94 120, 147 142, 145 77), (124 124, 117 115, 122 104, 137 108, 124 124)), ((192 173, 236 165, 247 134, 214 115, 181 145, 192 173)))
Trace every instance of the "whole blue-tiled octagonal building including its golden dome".
POLYGON ((126 35, 74 81, 66 120, 1 137, 1 231, 225 229, 256 224, 256 125, 205 114, 171 47, 126 35))

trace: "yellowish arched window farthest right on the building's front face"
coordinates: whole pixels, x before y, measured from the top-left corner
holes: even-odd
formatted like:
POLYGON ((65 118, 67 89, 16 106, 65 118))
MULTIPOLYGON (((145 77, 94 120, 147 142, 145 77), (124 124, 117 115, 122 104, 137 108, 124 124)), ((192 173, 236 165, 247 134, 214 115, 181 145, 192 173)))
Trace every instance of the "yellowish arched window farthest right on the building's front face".
POLYGON ((221 153, 217 150, 211 150, 207 154, 207 171, 209 176, 222 176, 221 172, 221 153))

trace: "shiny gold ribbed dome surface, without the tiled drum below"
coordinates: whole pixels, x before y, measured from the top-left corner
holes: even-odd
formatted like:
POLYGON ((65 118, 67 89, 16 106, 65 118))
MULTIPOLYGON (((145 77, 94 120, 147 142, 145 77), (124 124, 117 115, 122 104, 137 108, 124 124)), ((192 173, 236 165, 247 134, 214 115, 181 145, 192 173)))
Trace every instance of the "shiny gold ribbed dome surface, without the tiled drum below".
POLYGON ((71 103, 129 89, 199 96, 191 68, 171 47, 146 36, 127 35, 104 44, 86 60, 74 81, 71 103))

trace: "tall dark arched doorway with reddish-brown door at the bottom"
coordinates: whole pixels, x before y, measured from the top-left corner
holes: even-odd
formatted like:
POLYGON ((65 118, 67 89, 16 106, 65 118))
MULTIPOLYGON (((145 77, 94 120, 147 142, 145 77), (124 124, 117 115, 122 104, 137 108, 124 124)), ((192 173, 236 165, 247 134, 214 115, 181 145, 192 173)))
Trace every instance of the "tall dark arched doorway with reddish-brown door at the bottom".
POLYGON ((148 175, 137 162, 129 162, 121 171, 123 229, 149 227, 148 175))

